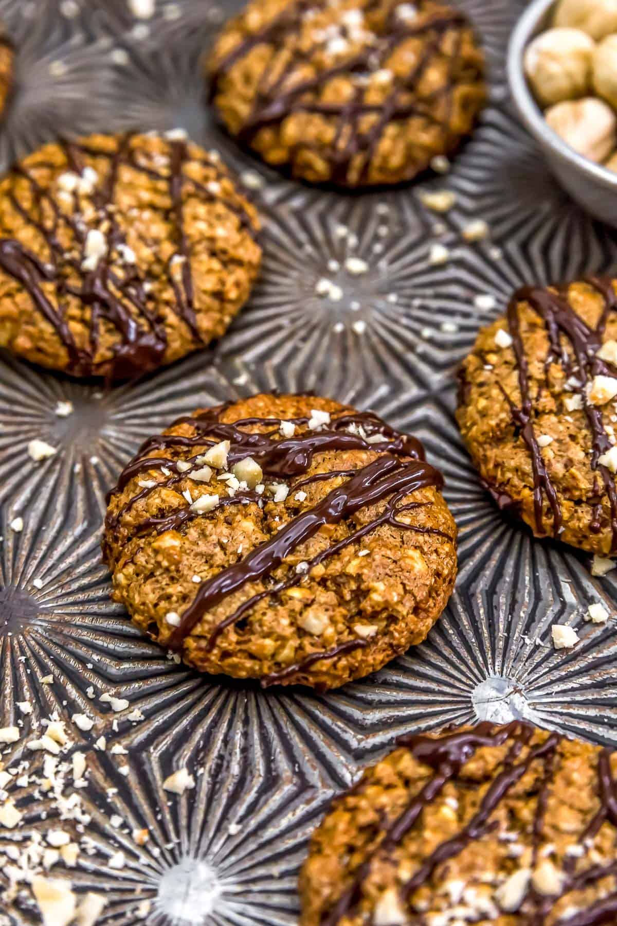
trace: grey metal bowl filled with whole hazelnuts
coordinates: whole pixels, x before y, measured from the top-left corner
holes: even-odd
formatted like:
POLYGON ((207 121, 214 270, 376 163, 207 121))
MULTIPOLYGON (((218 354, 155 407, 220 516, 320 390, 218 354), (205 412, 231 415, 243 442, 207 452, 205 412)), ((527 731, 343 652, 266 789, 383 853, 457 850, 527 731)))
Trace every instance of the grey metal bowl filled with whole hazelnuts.
POLYGON ((617 0, 535 0, 512 33, 508 73, 562 186, 617 227, 617 0))

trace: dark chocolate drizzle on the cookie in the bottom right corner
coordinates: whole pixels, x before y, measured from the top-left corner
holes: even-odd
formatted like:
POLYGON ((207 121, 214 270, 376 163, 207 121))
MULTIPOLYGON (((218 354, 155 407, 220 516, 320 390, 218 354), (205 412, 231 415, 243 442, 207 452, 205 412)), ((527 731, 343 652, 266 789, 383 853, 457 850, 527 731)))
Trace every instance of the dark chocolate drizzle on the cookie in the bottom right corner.
MULTIPOLYGON (((386 826, 381 840, 356 870, 351 884, 340 895, 334 906, 322 914, 321 926, 337 926, 343 918, 351 920, 360 915, 359 907, 364 898, 364 882, 369 878, 373 866, 380 862, 387 863, 413 827, 416 824, 421 827, 421 817, 425 808, 435 801, 447 782, 456 781, 463 766, 475 757, 478 749, 484 747, 510 744, 502 763, 502 769, 488 786, 475 816, 467 822, 461 832, 440 843, 420 864, 413 876, 401 885, 401 905, 403 908, 408 906, 413 893, 430 881, 439 865, 459 856, 467 845, 482 839, 487 833, 493 831, 496 823, 491 820, 491 817, 500 807, 501 801, 516 783, 521 781, 532 765, 540 762, 542 771, 536 812, 530 827, 535 861, 541 844, 544 816, 549 798, 549 782, 564 737, 558 733, 550 733, 543 743, 531 746, 534 733, 535 729, 530 724, 516 720, 505 727, 496 727, 489 722, 479 723, 472 730, 445 732, 436 738, 427 735, 401 737, 397 741, 398 745, 409 749, 418 762, 432 769, 433 776, 426 782, 419 794, 413 796, 401 815, 386 826), (521 758, 524 749, 527 752, 524 758, 521 758)), ((353 789, 354 794, 361 791, 363 785, 363 780, 358 782, 353 789)), ((608 749, 603 750, 598 757, 597 796, 598 813, 579 837, 579 845, 586 845, 586 840, 592 839, 606 820, 617 827, 617 784, 612 777, 611 752, 608 749)), ((556 901, 561 897, 593 885, 607 876, 617 875, 617 863, 604 867, 591 865, 578 872, 574 871, 575 866, 576 858, 570 857, 565 860, 559 897, 540 895, 530 884, 516 914, 517 918, 527 926, 545 926, 556 901)), ((604 923, 614 923, 616 913, 617 891, 609 896, 601 897, 590 907, 580 909, 568 918, 561 918, 559 924, 560 926, 600 926, 604 923)), ((410 926, 412 924, 413 926, 426 926, 426 919, 421 914, 413 914, 410 910, 409 916, 410 926)), ((364 911, 363 917, 366 923, 372 922, 370 918, 366 918, 364 911)))

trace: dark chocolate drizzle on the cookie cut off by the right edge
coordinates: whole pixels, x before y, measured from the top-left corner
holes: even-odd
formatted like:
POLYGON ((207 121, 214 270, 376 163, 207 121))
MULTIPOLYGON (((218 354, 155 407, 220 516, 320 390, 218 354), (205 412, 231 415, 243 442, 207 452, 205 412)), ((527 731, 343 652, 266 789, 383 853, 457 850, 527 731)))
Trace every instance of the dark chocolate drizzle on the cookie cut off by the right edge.
MULTIPOLYGON (((615 489, 611 471, 598 463, 598 458, 610 450, 612 444, 604 430, 601 409, 589 402, 586 387, 595 376, 617 376, 617 369, 613 369, 611 365, 597 356, 597 352, 602 345, 607 319, 611 312, 617 309, 617 295, 614 292, 611 280, 608 278, 588 277, 586 283, 600 294, 604 300, 604 308, 595 329, 590 328, 570 305, 567 286, 554 289, 524 286, 512 296, 507 319, 518 368, 518 381, 521 391, 520 407, 516 406, 505 392, 504 395, 511 408, 512 421, 519 429, 531 457, 537 531, 544 532, 543 507, 546 499, 552 513, 553 536, 559 537, 563 525, 561 504, 537 443, 534 429, 534 401, 536 397, 531 394, 530 390, 528 360, 520 330, 519 309, 522 303, 527 303, 544 321, 549 335, 549 354, 546 357, 545 368, 548 370, 551 363, 561 364, 566 375, 574 377, 575 381, 578 382, 578 385, 574 386, 573 393, 581 396, 587 427, 591 432, 593 448, 591 468, 598 470, 604 493, 609 499, 611 507, 611 553, 614 554, 617 553, 617 490, 615 489), (571 352, 565 349, 563 339, 570 345, 571 352)), ((590 530, 592 532, 601 530, 598 520, 601 512, 597 498, 598 490, 597 483, 595 497, 589 500, 589 504, 593 507, 590 521, 590 530)))

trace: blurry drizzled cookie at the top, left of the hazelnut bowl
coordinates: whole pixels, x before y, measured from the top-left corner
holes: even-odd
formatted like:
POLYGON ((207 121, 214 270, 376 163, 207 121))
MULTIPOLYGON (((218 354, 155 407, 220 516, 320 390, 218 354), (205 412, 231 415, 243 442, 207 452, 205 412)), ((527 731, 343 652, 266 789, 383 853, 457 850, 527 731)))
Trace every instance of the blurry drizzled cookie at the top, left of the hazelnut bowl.
POLYGON ((242 144, 342 187, 412 180, 456 150, 486 102, 474 31, 434 0, 253 0, 206 70, 242 144))

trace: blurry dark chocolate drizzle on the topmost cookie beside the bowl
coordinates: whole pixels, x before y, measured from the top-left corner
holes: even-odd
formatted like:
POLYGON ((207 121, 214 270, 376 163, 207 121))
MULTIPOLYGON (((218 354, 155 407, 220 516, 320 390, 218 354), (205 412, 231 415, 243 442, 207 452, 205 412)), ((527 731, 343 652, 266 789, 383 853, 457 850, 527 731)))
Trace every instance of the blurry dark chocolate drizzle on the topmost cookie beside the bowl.
MULTIPOLYGON (((461 57, 461 31, 469 27, 469 21, 463 13, 446 6, 436 6, 428 11, 420 9, 417 22, 405 23, 397 17, 398 4, 394 4, 389 10, 382 31, 374 33, 374 43, 366 44, 366 47, 351 57, 339 59, 331 67, 317 73, 314 78, 290 81, 288 79, 294 70, 310 60, 311 53, 296 45, 289 47, 289 40, 301 30, 302 18, 306 13, 321 10, 324 6, 326 0, 297 0, 290 3, 277 18, 260 31, 247 34, 213 69, 210 95, 211 99, 215 100, 220 81, 256 46, 271 44, 281 49, 281 56, 285 55, 282 69, 278 69, 278 56, 275 55, 274 61, 270 62, 262 74, 254 96, 253 108, 238 132, 241 141, 252 144, 257 132, 267 126, 280 124, 293 113, 307 112, 336 117, 337 131, 333 140, 329 145, 320 144, 318 154, 324 157, 330 166, 331 179, 343 185, 351 181, 352 161, 360 155, 364 158, 360 180, 366 178, 384 131, 389 124, 397 120, 413 116, 423 117, 428 122, 439 125, 447 142, 450 143, 450 113, 454 90, 462 80, 479 81, 482 77, 481 69, 470 69, 470 72, 466 72, 466 65, 461 57), (431 94, 420 97, 414 91, 420 85, 434 56, 440 51, 444 36, 451 30, 457 30, 457 43, 450 57, 447 79, 443 86, 431 94), (422 55, 404 78, 392 80, 389 95, 379 105, 365 102, 365 88, 361 83, 352 98, 344 103, 321 101, 320 97, 328 81, 339 74, 362 75, 382 69, 401 43, 419 36, 426 36, 422 55), (271 80, 273 74, 276 74, 276 79, 271 80), (410 94, 413 94, 411 100, 410 94), (445 105, 440 112, 439 105, 444 97, 445 105), (363 130, 363 117, 367 115, 376 115, 378 118, 369 129, 363 130)), ((364 13, 370 13, 374 6, 376 4, 373 0, 369 0, 363 7, 364 13)), ((422 3, 418 6, 422 6, 422 3)), ((322 50, 323 44, 315 39, 313 53, 322 50)), ((302 140, 296 147, 307 148, 308 143, 302 140)))

